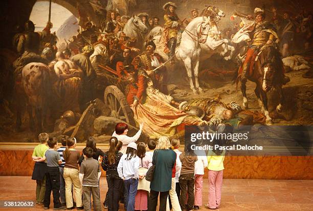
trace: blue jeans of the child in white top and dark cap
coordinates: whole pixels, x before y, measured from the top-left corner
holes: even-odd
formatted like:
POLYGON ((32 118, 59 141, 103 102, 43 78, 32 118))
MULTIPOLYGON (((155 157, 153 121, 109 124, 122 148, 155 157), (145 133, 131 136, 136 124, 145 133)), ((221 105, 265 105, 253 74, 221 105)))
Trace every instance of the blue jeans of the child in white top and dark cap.
POLYGON ((127 211, 135 210, 135 196, 137 194, 139 179, 130 178, 124 180, 125 185, 125 198, 124 198, 124 206, 127 211))

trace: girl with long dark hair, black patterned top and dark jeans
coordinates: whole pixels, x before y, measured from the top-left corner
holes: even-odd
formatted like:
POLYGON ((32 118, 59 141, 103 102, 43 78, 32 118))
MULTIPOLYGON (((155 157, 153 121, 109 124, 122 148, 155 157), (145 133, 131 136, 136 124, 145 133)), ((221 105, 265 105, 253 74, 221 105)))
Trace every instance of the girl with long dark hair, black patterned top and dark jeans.
MULTIPOLYGON (((119 177, 117 172, 117 166, 121 160, 122 152, 119 152, 121 144, 116 137, 111 137, 109 141, 109 150, 104 153, 101 166, 106 171, 106 182, 107 182, 107 193, 106 201, 108 210, 117 211, 119 210, 119 198, 120 198, 120 187, 122 186, 123 180, 119 177)), ((120 142, 122 143, 122 142, 120 142)), ((105 203, 105 202, 104 202, 105 203)))

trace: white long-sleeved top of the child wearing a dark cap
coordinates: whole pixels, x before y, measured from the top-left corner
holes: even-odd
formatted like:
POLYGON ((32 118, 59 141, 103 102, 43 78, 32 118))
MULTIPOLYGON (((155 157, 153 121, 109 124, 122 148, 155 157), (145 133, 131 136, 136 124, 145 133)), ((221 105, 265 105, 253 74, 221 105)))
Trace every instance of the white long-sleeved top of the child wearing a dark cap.
POLYGON ((127 154, 123 154, 121 157, 121 160, 118 165, 118 173, 119 177, 124 179, 130 179, 135 178, 138 179, 139 177, 139 164, 140 164, 140 158, 138 156, 131 157, 130 160, 125 160, 127 157, 127 154))

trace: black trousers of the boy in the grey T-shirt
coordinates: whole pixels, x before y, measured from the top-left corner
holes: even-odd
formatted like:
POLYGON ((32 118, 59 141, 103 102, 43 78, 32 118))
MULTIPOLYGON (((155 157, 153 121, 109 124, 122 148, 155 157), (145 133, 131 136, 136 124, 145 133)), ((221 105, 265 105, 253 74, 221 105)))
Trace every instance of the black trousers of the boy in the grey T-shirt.
POLYGON ((50 206, 51 191, 53 193, 53 206, 59 208, 60 203, 60 171, 59 167, 47 167, 46 192, 44 193, 44 207, 50 206))

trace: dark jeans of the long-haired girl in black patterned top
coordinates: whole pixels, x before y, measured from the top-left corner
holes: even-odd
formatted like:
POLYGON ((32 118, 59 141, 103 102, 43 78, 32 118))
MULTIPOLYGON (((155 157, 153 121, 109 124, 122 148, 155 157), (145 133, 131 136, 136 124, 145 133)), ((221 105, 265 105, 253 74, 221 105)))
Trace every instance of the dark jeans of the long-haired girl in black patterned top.
POLYGON ((107 171, 107 206, 108 210, 118 211, 119 210, 119 199, 120 199, 120 187, 122 186, 122 179, 119 177, 117 172, 107 171))

